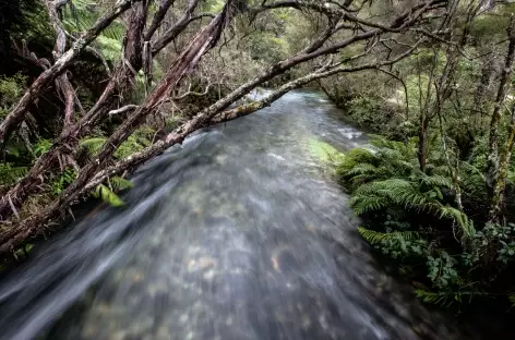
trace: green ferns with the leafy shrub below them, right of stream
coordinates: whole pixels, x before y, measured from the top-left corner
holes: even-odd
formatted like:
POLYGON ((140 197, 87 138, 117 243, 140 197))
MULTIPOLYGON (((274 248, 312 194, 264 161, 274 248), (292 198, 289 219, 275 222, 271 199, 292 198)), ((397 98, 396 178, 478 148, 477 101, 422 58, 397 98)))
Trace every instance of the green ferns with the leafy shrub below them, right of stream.
MULTIPOLYGON (((492 244, 499 264, 515 259, 515 230, 508 224, 477 231, 455 205, 455 184, 440 150, 430 147, 426 171, 420 170, 416 151, 416 139, 402 143, 372 136, 368 147, 342 157, 338 175, 350 190, 350 203, 373 226, 358 232, 382 254, 408 264, 411 270, 403 272, 431 286, 417 290, 424 302, 445 306, 468 302, 483 294, 470 282, 492 244)), ((469 162, 462 161, 459 170, 462 177, 469 174, 466 185, 483 185, 469 162)))

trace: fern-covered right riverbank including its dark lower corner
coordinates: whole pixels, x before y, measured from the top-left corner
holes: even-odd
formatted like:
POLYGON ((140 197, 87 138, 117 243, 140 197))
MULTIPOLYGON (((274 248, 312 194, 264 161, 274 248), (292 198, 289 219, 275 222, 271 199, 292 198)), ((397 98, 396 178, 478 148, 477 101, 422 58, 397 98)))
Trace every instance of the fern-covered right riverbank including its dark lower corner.
MULTIPOLYGON (((349 120, 352 117, 343 118, 349 120)), ((422 171, 417 149, 414 137, 373 135, 366 148, 333 157, 339 159, 334 163, 337 178, 363 219, 359 233, 382 265, 407 280, 421 301, 458 313, 466 323, 477 320, 488 332, 495 332, 489 325, 495 324, 503 329, 499 337, 508 338, 503 325, 513 314, 514 224, 510 219, 481 224, 484 220, 472 202, 484 192, 484 182, 474 160, 460 160, 457 183, 442 155, 430 154, 422 171), (456 184, 463 187, 462 206, 456 205, 456 184), (499 243, 488 259, 492 242, 499 243), (488 323, 480 320, 486 314, 488 323)))

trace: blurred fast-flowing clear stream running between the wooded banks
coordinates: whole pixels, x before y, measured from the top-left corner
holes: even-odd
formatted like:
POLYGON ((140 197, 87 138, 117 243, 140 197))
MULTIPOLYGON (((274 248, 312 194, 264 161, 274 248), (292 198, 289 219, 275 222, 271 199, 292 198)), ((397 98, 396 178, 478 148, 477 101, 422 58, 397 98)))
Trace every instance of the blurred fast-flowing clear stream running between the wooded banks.
POLYGON ((311 141, 364 136, 322 96, 200 132, 0 283, 0 339, 471 339, 381 270, 311 141))

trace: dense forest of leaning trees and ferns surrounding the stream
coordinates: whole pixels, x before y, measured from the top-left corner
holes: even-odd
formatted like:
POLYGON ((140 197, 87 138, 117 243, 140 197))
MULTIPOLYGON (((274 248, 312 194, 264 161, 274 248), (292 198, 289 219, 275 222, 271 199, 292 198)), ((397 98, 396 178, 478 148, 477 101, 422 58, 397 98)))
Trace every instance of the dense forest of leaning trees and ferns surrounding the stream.
POLYGON ((191 133, 291 89, 374 133, 338 157, 359 233, 428 303, 515 303, 515 3, 0 0, 0 256, 191 133), (248 94, 273 90, 260 99, 248 94), (382 255, 381 255, 382 256, 382 255))

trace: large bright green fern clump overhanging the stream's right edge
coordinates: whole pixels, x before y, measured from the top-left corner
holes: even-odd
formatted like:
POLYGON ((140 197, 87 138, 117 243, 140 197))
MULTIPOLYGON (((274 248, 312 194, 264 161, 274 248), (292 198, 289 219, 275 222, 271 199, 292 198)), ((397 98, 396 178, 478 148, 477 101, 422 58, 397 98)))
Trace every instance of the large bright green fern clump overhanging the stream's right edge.
POLYGON ((371 149, 347 154, 339 166, 344 182, 352 190, 350 203, 358 215, 387 209, 414 210, 453 219, 468 238, 474 227, 467 216, 450 206, 444 192, 451 193, 448 177, 422 172, 415 157, 415 139, 393 142, 378 136, 371 149))

